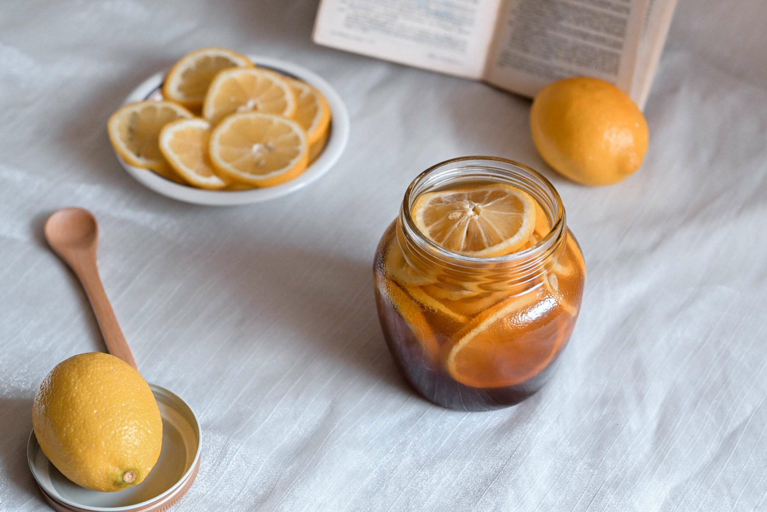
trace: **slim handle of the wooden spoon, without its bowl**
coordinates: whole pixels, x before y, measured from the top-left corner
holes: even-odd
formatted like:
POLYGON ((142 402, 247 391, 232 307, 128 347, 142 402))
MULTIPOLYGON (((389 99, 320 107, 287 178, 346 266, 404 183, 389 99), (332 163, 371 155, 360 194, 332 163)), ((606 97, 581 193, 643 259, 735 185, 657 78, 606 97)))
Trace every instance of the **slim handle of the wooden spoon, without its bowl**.
MULTIPOLYGON (((85 256, 85 255, 84 255, 85 256)), ((74 262, 73 262, 74 263, 74 262)), ((81 258, 76 264, 72 265, 74 273, 80 278, 83 284, 88 300, 91 301, 91 307, 101 329, 101 335, 104 336, 104 342, 107 344, 107 350, 129 365, 138 370, 136 359, 130 352, 128 342, 125 340, 120 324, 117 323, 117 317, 114 315, 112 305, 107 298, 107 292, 104 291, 104 285, 101 284, 101 278, 98 275, 96 258, 81 258)))

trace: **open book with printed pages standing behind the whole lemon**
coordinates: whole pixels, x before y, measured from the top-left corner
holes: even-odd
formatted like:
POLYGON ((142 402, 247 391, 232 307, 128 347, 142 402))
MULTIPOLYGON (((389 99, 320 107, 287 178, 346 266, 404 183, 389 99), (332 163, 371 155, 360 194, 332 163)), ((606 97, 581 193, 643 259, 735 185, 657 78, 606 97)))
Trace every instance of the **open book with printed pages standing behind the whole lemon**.
POLYGON ((314 41, 533 97, 588 75, 644 108, 676 0, 321 0, 314 41))

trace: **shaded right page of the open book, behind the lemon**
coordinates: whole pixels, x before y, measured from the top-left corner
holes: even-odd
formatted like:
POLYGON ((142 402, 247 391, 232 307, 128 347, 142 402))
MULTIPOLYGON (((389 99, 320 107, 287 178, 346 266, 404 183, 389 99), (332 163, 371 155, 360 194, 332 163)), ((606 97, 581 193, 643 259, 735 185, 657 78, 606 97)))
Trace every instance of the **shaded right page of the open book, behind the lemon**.
POLYGON ((534 97, 552 81, 588 75, 630 94, 647 4, 648 0, 505 0, 486 81, 534 97))

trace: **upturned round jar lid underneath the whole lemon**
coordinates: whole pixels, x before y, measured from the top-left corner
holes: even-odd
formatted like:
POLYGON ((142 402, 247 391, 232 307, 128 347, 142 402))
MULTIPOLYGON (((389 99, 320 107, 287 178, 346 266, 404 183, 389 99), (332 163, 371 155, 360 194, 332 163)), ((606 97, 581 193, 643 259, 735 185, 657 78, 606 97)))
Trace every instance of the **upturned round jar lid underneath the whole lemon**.
POLYGON ((135 487, 104 493, 74 484, 45 457, 32 431, 27 444, 29 469, 54 510, 161 512, 186 494, 199 470, 202 431, 186 402, 166 388, 153 384, 150 388, 163 417, 163 450, 152 472, 135 487))

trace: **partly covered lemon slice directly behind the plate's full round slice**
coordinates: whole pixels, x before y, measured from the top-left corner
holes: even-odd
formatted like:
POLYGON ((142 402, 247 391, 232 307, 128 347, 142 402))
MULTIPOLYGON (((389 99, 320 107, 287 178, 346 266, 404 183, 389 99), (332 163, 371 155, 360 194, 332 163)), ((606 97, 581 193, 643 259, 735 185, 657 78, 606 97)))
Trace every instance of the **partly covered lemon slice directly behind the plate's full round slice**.
POLYGON ((242 111, 293 117, 296 103, 290 86, 274 71, 232 68, 213 79, 202 104, 202 117, 214 125, 242 111))

